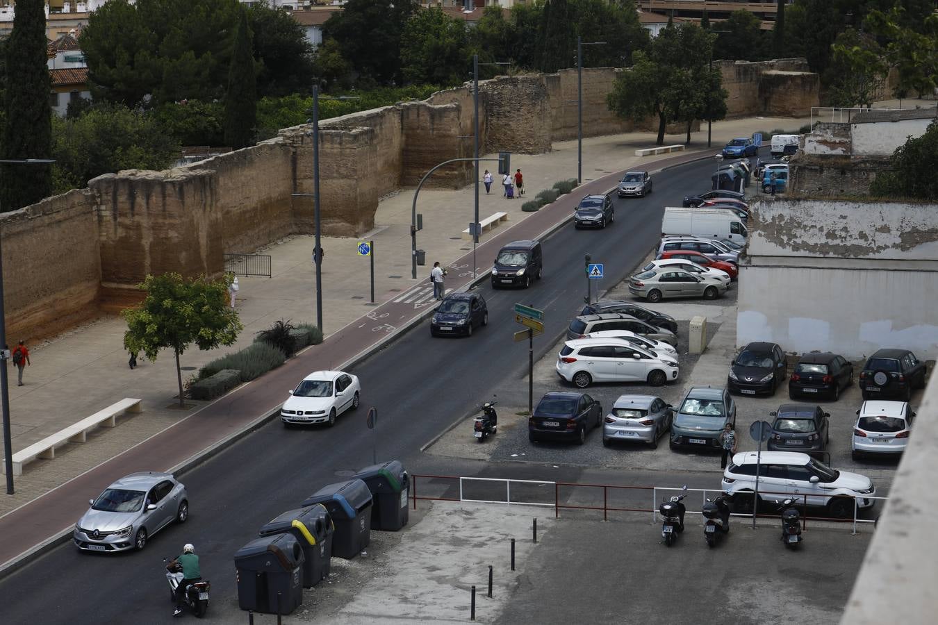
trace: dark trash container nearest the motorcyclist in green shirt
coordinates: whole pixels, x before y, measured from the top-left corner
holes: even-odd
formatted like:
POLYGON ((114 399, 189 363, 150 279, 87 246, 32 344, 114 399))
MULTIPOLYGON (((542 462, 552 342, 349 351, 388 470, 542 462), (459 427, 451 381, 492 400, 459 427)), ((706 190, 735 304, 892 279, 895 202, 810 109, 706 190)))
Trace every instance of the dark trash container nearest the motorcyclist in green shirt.
POLYGON ((303 547, 293 534, 256 538, 234 554, 242 610, 290 614, 303 603, 303 547))

